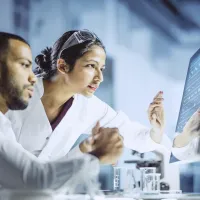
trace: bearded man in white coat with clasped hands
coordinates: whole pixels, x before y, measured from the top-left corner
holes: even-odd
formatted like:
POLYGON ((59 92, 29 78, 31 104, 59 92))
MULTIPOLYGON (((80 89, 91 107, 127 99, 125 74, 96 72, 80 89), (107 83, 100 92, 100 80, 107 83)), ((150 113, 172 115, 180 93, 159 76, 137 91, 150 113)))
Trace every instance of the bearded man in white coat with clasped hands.
MULTIPOLYGON (((88 178, 92 178, 94 175, 90 171, 98 168, 93 156, 44 163, 17 143, 5 113, 9 109, 27 108, 35 83, 29 44, 17 35, 0 32, 0 185, 6 188, 58 189, 63 185, 71 187, 67 183, 75 174, 79 174, 77 184, 80 184, 81 173, 78 172, 87 172, 88 178)), ((104 163, 112 156, 115 162, 122 152, 117 130, 102 129, 99 135, 98 125, 96 129, 94 134, 99 141, 98 145, 93 145, 90 154, 101 158, 104 163), (109 141, 106 147, 101 143, 102 137, 109 141)), ((95 143, 94 139, 91 142, 95 143)))

